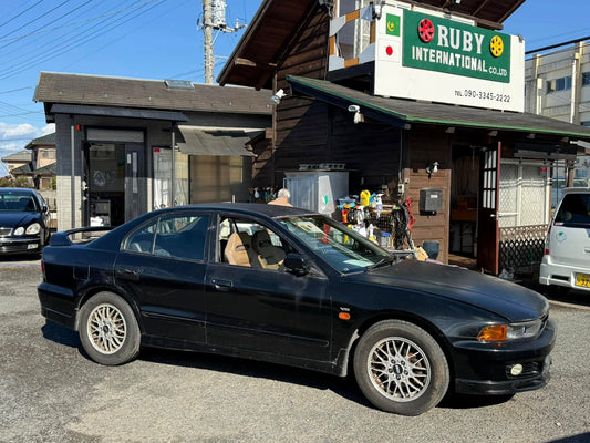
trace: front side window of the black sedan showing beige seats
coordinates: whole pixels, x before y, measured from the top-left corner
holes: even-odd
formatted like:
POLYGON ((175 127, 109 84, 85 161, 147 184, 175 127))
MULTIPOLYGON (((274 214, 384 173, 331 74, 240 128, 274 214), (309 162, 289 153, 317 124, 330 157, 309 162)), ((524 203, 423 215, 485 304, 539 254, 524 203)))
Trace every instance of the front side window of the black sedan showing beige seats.
POLYGON ((224 218, 218 227, 218 261, 283 270, 291 247, 268 227, 247 219, 224 218))

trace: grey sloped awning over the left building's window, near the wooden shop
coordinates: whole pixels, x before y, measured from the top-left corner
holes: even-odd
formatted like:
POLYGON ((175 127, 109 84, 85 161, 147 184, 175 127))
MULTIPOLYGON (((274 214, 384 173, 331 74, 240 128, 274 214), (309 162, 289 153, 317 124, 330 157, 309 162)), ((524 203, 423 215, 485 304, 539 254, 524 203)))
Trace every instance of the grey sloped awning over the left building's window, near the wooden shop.
POLYGON ((246 143, 258 135, 260 131, 244 130, 205 130, 193 126, 178 126, 176 143, 183 154, 188 155, 227 155, 255 156, 246 150, 246 143))

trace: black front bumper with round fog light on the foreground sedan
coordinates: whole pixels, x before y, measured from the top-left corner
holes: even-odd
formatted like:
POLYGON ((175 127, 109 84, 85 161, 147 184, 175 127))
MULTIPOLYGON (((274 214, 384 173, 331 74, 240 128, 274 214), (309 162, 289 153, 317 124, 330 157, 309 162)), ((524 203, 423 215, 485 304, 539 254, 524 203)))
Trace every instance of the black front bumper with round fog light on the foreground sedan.
POLYGON ((557 337, 551 320, 532 341, 493 344, 459 341, 455 351, 455 392, 464 394, 510 395, 542 388, 550 379, 551 357, 557 337), (522 373, 511 375, 515 364, 522 373))

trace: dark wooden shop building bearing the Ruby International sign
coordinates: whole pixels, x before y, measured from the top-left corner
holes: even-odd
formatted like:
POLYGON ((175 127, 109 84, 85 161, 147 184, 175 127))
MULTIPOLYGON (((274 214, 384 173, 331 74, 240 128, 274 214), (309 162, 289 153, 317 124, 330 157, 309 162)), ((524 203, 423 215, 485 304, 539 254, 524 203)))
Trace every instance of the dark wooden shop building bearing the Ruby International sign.
POLYGON ((524 112, 525 42, 499 32, 521 3, 263 1, 218 78, 282 95, 255 184, 344 165, 349 194, 412 197, 414 241, 441 261, 532 261, 551 167, 590 130, 524 112))

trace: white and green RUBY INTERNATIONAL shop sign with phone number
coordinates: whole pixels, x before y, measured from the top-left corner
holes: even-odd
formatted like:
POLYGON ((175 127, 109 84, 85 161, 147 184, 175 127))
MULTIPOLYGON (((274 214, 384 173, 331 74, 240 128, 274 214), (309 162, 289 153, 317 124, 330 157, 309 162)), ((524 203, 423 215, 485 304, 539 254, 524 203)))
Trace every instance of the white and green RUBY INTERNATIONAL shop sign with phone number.
POLYGON ((376 27, 375 95, 524 111, 518 37, 403 2, 384 6, 376 27))

